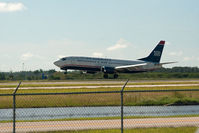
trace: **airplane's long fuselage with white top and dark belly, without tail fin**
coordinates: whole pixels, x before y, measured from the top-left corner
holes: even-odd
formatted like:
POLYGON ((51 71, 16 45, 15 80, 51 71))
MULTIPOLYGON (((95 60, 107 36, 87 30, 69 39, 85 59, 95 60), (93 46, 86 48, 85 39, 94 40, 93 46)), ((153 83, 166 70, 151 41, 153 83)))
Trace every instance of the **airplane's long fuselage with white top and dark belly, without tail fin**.
MULTIPOLYGON (((93 57, 78 57, 70 56, 62 58, 54 63, 56 66, 60 67, 62 70, 75 69, 75 70, 85 70, 85 71, 101 71, 102 68, 110 69, 114 72, 124 72, 124 73, 134 73, 134 72, 144 72, 149 70, 154 70, 160 68, 160 66, 145 62, 145 61, 131 61, 131 60, 118 60, 118 59, 106 59, 106 58, 93 58, 93 57), (137 70, 115 70, 118 66, 136 65, 143 64, 146 65, 139 67, 137 70)), ((107 72, 109 73, 109 72, 107 72)), ((113 73, 113 72, 110 72, 113 73)))

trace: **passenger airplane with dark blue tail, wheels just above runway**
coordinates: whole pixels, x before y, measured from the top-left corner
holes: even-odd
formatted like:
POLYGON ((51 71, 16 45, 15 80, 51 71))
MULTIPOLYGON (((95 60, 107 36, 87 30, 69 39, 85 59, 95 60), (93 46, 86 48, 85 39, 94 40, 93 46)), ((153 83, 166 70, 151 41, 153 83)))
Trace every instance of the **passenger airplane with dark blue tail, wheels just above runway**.
POLYGON ((103 72, 104 78, 108 78, 108 74, 114 74, 113 77, 117 78, 118 73, 148 72, 159 69, 162 67, 162 65, 175 63, 160 63, 164 44, 165 41, 160 41, 147 57, 137 59, 136 61, 69 56, 55 61, 54 64, 61 70, 65 70, 66 73, 68 69, 81 70, 91 74, 96 72, 103 72))

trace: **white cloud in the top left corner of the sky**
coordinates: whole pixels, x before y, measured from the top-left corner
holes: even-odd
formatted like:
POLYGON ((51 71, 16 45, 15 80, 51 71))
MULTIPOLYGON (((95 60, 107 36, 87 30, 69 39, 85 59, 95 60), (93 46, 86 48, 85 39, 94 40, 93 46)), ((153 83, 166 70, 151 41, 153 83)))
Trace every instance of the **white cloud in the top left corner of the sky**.
POLYGON ((26 7, 23 3, 16 2, 16 3, 6 3, 0 2, 0 12, 16 12, 25 10, 26 7))

